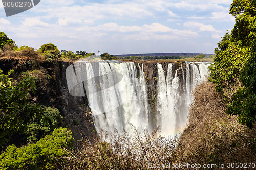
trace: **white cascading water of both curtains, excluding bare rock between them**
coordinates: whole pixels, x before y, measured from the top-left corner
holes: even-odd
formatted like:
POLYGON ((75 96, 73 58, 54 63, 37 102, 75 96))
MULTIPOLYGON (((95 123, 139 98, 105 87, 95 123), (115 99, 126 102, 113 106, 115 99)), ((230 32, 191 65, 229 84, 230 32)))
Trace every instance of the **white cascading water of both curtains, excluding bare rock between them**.
MULTIPOLYGON (((152 130, 143 64, 142 67, 138 65, 138 73, 133 62, 98 62, 98 67, 87 62, 85 65, 88 79, 85 86, 90 91, 87 98, 98 132, 124 129, 129 133, 132 131, 129 123, 139 131, 152 130), (120 82, 115 72, 122 75, 120 82), (95 76, 99 79, 95 80, 95 76)), ((193 101, 191 92, 208 75, 208 66, 206 63, 186 63, 184 71, 183 65, 175 70, 175 65, 169 63, 165 77, 162 65, 157 63, 156 125, 160 126, 161 135, 175 135, 185 128, 188 106, 193 101)))

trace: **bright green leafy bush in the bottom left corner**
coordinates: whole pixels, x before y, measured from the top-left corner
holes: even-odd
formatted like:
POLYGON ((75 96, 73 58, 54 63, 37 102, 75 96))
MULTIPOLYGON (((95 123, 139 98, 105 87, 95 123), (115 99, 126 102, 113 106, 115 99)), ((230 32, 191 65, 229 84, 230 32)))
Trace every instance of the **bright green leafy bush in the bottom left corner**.
POLYGON ((46 135, 35 144, 17 148, 7 147, 0 155, 1 169, 55 169, 65 160, 58 159, 69 155, 63 148, 72 147, 74 139, 72 132, 66 128, 55 129, 52 135, 46 135))

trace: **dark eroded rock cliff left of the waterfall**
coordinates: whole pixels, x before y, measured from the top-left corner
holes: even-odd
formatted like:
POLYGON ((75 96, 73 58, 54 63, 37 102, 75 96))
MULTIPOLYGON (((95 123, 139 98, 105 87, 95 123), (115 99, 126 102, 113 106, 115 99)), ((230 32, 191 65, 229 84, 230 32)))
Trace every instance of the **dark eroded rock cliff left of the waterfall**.
POLYGON ((52 64, 28 59, 1 59, 0 69, 4 74, 13 69, 15 74, 12 76, 15 81, 19 81, 22 72, 30 71, 32 76, 38 76, 39 79, 36 81, 37 97, 34 98, 33 94, 30 94, 31 99, 39 104, 57 108, 63 116, 60 126, 71 129, 74 138, 79 140, 82 136, 94 135, 96 131, 87 99, 69 94, 65 71, 71 63, 59 61, 52 64), (35 72, 40 72, 40 74, 33 75, 33 70, 38 70, 35 72))

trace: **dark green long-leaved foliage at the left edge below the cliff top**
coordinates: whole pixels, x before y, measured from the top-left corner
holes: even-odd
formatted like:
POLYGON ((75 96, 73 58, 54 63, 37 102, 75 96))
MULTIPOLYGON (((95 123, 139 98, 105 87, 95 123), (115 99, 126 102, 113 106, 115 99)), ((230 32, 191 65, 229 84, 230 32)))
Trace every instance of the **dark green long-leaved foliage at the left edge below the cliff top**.
POLYGON ((15 85, 9 77, 13 72, 11 70, 5 75, 0 69, 0 147, 14 132, 24 133, 26 122, 33 116, 42 119, 44 124, 51 124, 50 116, 44 112, 44 108, 28 99, 30 90, 35 94, 35 78, 24 73, 15 85))

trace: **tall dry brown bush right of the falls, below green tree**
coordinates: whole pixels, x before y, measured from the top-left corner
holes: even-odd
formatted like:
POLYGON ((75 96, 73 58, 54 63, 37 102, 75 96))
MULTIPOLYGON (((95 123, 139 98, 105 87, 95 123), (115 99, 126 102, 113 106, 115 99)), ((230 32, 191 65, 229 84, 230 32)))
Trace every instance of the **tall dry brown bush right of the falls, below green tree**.
POLYGON ((216 164, 255 162, 255 128, 250 130, 238 123, 236 116, 227 115, 226 104, 214 89, 214 84, 204 82, 194 92, 189 126, 180 137, 181 160, 216 164), (244 147, 246 144, 249 145, 244 147))

